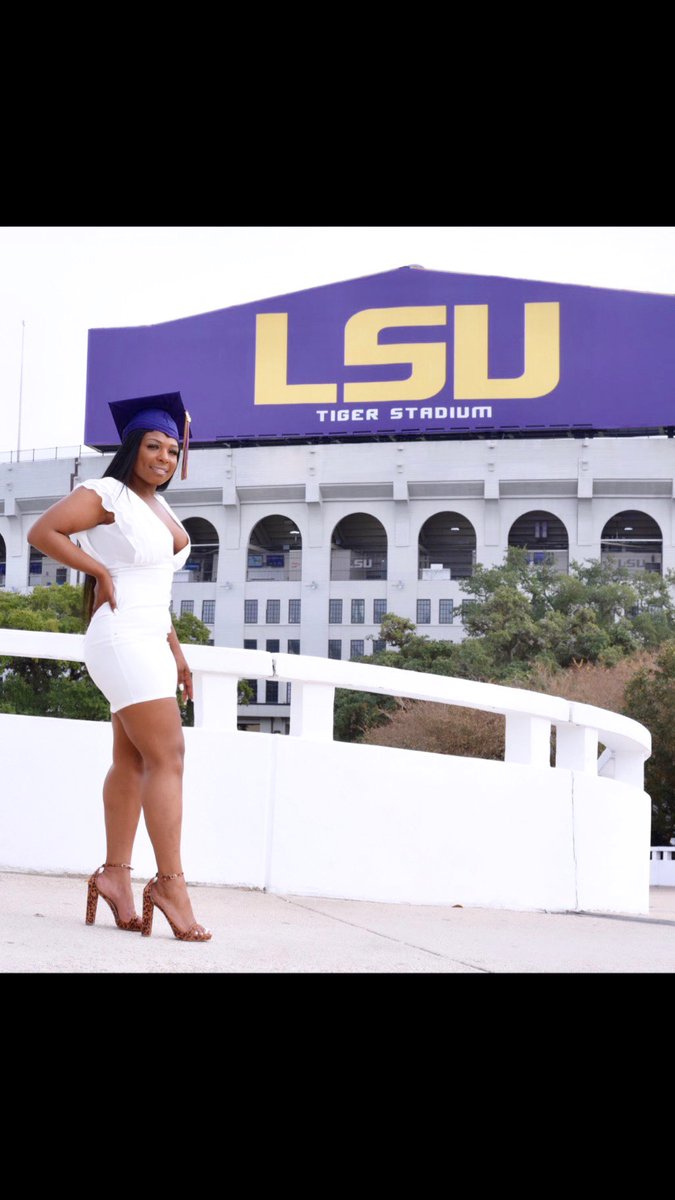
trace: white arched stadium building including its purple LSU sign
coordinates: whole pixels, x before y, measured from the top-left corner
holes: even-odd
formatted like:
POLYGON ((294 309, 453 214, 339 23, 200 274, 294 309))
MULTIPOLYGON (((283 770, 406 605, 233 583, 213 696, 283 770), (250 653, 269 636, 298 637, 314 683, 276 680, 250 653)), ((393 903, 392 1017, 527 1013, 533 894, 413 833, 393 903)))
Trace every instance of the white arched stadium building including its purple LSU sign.
MULTIPOLYGON (((0 587, 78 582, 26 530, 103 474, 110 401, 173 392, 192 416, 173 607, 216 646, 351 659, 386 612, 459 641, 462 582, 509 546, 665 572, 674 306, 405 266, 91 330, 84 445, 0 461, 0 587)), ((287 732, 291 686, 256 682, 239 727, 287 732)))

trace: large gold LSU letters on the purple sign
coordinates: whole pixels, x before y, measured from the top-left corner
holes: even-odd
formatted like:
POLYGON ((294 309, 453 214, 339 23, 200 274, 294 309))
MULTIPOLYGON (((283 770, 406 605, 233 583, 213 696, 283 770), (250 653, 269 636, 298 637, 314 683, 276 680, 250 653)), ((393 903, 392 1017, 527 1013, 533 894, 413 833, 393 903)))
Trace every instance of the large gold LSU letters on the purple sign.
MULTIPOLYGON (((525 305, 522 374, 488 374, 488 305, 455 305, 455 400, 533 400, 560 380, 560 304, 525 305)), ((345 366, 410 365, 407 379, 345 384, 348 404, 431 400, 446 386, 446 342, 381 343, 383 329, 446 325, 444 305, 364 308, 345 326, 345 366)), ((288 313, 256 317, 256 404, 336 404, 336 383, 288 383, 288 313)))

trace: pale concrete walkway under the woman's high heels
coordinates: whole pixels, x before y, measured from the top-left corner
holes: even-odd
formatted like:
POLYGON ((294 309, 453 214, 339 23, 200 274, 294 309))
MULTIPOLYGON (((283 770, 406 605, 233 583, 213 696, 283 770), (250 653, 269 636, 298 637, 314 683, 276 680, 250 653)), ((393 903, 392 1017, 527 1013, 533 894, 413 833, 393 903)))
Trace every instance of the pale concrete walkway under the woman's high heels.
MULTIPOLYGON (((145 881, 135 880, 141 912, 145 881)), ((675 888, 644 917, 512 912, 268 895, 192 886, 213 940, 179 942, 160 912, 151 937, 115 928, 85 878, 0 872, 0 973, 506 974, 675 972, 675 888)))

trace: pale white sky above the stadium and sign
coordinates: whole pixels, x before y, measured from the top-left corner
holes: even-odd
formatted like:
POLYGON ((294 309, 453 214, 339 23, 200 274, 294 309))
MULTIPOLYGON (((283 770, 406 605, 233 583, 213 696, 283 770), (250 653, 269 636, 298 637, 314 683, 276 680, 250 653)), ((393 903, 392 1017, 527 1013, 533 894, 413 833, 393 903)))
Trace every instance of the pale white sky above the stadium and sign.
POLYGON ((0 451, 79 445, 89 329, 411 264, 675 295, 675 226, 0 228, 0 451), (25 322, 22 379, 22 322, 25 322))

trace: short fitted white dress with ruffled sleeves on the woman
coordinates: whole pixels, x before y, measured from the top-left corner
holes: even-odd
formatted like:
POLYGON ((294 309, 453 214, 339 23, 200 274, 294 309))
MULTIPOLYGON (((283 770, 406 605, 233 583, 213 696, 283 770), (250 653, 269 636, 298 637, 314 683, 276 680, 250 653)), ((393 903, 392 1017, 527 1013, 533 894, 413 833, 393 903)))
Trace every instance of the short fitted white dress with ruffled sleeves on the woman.
MULTIPOLYGON (((178 672, 167 636, 172 629, 173 572, 190 554, 187 545, 174 554, 171 529, 119 479, 86 479, 103 508, 114 512, 110 524, 76 533, 82 548, 107 566, 115 588, 117 608, 96 610, 84 638, 84 661, 110 712, 127 704, 175 696, 178 672)), ((163 497, 156 499, 180 521, 163 497)), ((184 530, 187 535, 187 530, 184 530)))

